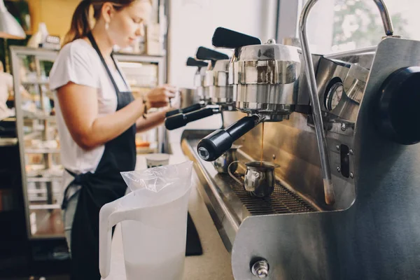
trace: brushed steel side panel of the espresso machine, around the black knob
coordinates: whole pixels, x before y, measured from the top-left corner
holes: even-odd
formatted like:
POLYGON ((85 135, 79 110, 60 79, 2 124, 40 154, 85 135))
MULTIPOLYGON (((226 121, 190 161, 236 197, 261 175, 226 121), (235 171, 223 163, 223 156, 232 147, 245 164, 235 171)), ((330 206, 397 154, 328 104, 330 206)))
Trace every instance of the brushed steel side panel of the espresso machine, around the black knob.
POLYGON ((253 279, 251 258, 265 258, 267 279, 419 279, 420 146, 402 146, 374 129, 379 85, 402 66, 420 65, 420 42, 379 44, 355 129, 357 198, 345 211, 250 216, 232 248, 235 279, 253 279))

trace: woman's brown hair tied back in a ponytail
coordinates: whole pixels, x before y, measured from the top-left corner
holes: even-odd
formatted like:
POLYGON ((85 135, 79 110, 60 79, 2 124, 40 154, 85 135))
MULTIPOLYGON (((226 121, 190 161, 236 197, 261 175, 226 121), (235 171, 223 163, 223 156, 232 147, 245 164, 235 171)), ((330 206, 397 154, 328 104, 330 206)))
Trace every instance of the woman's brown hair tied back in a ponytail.
POLYGON ((73 13, 70 30, 64 37, 63 45, 71 43, 78 38, 85 37, 92 30, 89 19, 90 6, 93 8, 93 18, 99 20, 104 3, 112 3, 113 8, 122 10, 135 1, 138 0, 82 0, 73 13))

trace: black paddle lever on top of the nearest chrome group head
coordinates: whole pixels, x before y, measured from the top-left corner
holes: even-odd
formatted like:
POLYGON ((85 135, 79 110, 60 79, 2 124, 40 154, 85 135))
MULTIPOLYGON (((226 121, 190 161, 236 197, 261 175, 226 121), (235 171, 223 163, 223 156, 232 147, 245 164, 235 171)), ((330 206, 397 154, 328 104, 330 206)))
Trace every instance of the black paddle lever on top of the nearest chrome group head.
POLYGON ((261 40, 237 31, 218 27, 214 31, 211 43, 215 48, 241 48, 245 45, 260 45, 261 40))

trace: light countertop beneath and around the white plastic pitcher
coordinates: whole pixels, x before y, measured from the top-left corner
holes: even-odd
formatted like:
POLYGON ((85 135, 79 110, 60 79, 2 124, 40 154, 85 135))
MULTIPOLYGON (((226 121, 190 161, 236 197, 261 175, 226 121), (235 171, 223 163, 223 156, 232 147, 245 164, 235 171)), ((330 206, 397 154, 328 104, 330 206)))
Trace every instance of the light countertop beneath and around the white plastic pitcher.
MULTIPOLYGON (((176 164, 186 160, 179 144, 172 144, 173 155, 169 158, 169 164, 176 164)), ((146 159, 144 155, 137 156, 136 169, 145 169, 146 159)), ((203 254, 186 257, 183 280, 230 280, 233 279, 230 264, 230 253, 223 245, 216 226, 211 219, 200 193, 196 188, 197 175, 193 172, 193 189, 188 204, 188 211, 200 235, 203 254)), ((125 265, 121 228, 117 225, 112 241, 111 274, 106 280, 125 280, 125 265)))

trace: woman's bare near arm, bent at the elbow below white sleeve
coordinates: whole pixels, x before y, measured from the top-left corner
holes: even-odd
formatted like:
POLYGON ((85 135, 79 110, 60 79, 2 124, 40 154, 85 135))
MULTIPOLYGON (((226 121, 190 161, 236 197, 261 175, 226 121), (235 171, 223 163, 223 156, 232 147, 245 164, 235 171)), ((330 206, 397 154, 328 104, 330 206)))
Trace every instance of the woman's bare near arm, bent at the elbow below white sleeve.
POLYGON ((143 99, 136 99, 115 113, 98 116, 97 90, 75 83, 59 87, 57 97, 71 137, 85 150, 123 134, 144 113, 143 99))

